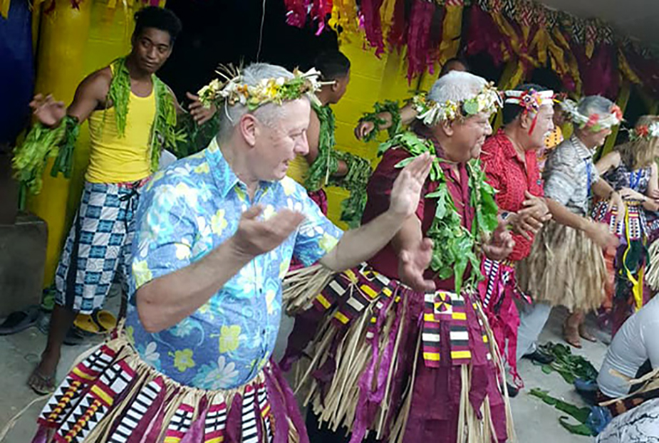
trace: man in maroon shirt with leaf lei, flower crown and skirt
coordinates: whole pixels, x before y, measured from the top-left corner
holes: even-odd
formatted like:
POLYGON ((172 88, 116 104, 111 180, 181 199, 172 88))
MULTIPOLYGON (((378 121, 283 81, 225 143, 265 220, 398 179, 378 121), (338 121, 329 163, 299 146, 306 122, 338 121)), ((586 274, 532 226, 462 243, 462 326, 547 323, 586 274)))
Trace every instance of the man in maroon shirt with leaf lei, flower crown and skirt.
POLYGON ((452 72, 427 98, 412 130, 380 146, 362 222, 388 207, 401 165, 434 152, 414 216, 360 266, 296 271, 285 282, 296 323, 281 368, 295 365, 314 443, 514 440, 503 363, 476 288, 481 258, 505 259, 514 246, 477 160, 499 93, 452 72))

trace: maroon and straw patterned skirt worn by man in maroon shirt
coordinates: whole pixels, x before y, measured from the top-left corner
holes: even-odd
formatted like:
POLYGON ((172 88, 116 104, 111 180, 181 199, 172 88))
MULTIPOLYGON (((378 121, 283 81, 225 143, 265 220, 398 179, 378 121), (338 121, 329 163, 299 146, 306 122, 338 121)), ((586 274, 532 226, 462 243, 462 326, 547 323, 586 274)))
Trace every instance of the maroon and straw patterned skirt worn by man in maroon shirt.
POLYGON ((286 281, 282 370, 335 431, 401 442, 513 438, 504 369, 477 296, 417 293, 363 264, 286 281))

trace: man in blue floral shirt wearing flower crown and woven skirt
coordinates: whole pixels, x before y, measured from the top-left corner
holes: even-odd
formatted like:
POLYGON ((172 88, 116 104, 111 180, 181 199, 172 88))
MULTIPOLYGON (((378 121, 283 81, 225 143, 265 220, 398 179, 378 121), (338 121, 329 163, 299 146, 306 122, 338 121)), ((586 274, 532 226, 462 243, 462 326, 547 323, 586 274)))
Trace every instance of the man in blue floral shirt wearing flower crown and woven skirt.
MULTIPOLYGON (((219 134, 147 185, 125 325, 67 375, 36 441, 308 442, 271 361, 291 257, 341 271, 373 256, 413 216, 432 161, 407 165, 389 210, 343 234, 286 177, 316 88, 316 73, 259 63, 200 91, 222 106, 219 134)), ((410 285, 431 249, 402 254, 410 285)))

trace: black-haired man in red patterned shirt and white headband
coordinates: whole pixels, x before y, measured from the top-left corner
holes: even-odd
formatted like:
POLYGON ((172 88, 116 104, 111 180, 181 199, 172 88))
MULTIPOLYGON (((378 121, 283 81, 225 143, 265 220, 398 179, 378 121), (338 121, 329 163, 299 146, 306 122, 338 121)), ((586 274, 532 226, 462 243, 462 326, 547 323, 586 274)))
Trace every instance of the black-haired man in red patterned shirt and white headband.
MULTIPOLYGON (((536 150, 554 129, 554 93, 537 85, 522 85, 505 94, 504 128, 485 142, 481 159, 487 181, 499 191, 499 212, 512 226, 515 246, 507 261, 483 261, 486 279, 479 289, 499 349, 506 354, 514 381, 521 385, 516 363, 519 313, 514 298, 522 294, 517 291, 514 268, 529 255, 534 234, 551 217, 542 198, 536 150)), ((548 355, 536 354, 531 358, 549 363, 548 355)), ((508 390, 510 395, 517 394, 512 386, 508 390)))

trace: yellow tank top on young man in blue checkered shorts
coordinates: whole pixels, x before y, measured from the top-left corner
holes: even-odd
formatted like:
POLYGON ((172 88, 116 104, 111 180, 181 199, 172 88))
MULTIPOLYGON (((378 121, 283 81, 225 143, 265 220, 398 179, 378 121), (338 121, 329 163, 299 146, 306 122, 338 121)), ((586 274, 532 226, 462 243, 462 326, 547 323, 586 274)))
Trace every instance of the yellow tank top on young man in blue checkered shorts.
POLYGON ((130 92, 123 137, 117 131, 115 108, 91 113, 91 147, 85 179, 92 183, 121 183, 148 177, 151 174, 150 135, 154 119, 155 87, 148 97, 138 97, 130 92))

